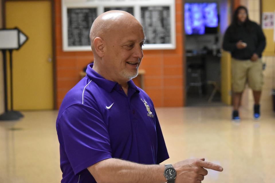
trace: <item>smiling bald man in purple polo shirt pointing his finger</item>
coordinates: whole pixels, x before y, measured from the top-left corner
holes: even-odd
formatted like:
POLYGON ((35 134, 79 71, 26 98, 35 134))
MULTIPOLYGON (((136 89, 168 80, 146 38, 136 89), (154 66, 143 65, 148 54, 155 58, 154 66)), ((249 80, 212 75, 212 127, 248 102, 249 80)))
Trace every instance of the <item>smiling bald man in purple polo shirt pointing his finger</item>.
POLYGON ((160 164, 169 156, 153 102, 131 80, 145 40, 135 17, 105 12, 90 39, 94 63, 66 94, 56 121, 61 182, 199 183, 205 168, 223 170, 204 158, 160 164))

